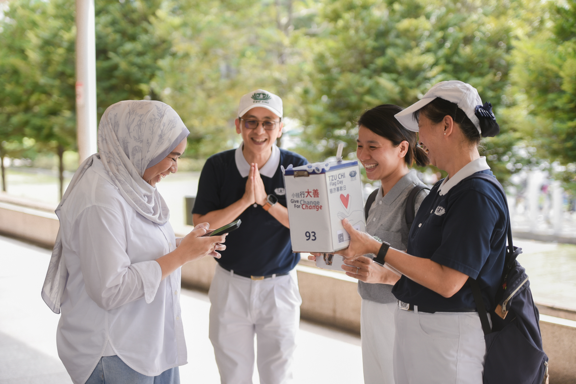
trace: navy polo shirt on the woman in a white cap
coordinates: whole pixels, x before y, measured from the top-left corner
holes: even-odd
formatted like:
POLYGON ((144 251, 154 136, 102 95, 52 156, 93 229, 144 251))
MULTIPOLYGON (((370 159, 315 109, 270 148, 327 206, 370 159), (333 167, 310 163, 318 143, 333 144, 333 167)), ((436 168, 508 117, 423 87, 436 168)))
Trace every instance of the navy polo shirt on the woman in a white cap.
MULTIPOLYGON (((492 175, 489 170, 476 173, 492 175)), ((464 180, 445 195, 438 193, 440 185, 441 181, 416 213, 407 253, 475 278, 490 310, 496 305, 494 296, 506 255, 506 202, 495 186, 482 179, 464 180)), ((392 293, 402 302, 437 310, 476 307, 468 283, 451 298, 444 298, 402 276, 392 293)))

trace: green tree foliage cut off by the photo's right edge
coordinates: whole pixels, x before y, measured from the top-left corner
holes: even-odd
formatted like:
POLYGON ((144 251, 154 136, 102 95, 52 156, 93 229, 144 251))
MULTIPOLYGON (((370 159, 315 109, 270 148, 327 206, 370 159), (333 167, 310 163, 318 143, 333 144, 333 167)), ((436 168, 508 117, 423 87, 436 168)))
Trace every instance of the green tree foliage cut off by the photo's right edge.
MULTIPOLYGON (((566 182, 576 173, 576 1, 550 3, 545 24, 535 36, 523 36, 514 50, 510 110, 537 157, 567 165, 561 169, 566 182)), ((540 21, 540 18, 538 19, 540 21)), ((576 189, 576 185, 569 186, 576 189)))

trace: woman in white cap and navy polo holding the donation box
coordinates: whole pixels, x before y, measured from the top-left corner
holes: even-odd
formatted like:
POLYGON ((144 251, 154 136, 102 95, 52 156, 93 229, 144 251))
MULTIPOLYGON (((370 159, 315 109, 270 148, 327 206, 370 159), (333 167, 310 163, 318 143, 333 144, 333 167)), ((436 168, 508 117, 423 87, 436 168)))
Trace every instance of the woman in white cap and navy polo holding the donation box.
MULTIPOLYGON (((373 253, 403 276, 392 289, 398 299, 394 376, 404 383, 482 383, 486 344, 468 278, 478 281, 484 303, 494 307, 501 279, 509 221, 506 202, 490 182, 480 157, 481 137, 498 134, 490 103, 461 81, 434 85, 414 105, 396 114, 431 164, 448 172, 424 199, 408 236, 406 252, 356 231, 342 253, 350 261, 373 253)), ((396 275, 389 272, 389 281, 396 275)))

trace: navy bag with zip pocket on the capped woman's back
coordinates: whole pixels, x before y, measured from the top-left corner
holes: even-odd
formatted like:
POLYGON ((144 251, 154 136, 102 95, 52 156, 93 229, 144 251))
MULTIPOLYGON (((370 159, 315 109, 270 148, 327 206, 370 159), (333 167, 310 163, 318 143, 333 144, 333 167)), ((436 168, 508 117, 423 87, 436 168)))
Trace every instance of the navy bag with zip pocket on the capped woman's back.
MULTIPOLYGON (((494 176, 475 174, 464 180, 468 179, 483 179, 492 183, 502 193, 507 208, 506 193, 494 176)), ((512 243, 510 218, 507 236, 506 260, 495 298, 497 305, 490 310, 492 327, 478 282, 468 278, 486 341, 483 382, 548 384, 548 356, 542 348, 540 314, 532 299, 526 270, 516 260, 522 249, 514 247, 512 243)))

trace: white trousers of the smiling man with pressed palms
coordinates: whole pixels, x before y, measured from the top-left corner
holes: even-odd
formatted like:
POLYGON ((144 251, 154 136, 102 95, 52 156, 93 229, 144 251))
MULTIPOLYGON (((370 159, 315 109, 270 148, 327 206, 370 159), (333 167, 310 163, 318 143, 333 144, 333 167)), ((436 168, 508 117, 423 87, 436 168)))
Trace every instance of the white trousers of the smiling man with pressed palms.
POLYGON ((252 384, 255 335, 260 383, 291 382, 302 304, 296 271, 252 280, 217 265, 208 295, 209 336, 222 384, 252 384))

